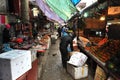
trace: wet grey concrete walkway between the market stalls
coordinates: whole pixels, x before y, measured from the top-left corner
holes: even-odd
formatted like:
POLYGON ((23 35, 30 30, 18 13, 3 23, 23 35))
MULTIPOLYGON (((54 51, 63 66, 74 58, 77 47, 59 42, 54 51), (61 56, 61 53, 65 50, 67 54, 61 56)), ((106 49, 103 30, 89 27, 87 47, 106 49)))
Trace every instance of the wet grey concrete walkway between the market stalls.
MULTIPOLYGON (((61 55, 59 51, 59 39, 55 44, 51 44, 45 65, 41 72, 40 80, 74 80, 70 74, 62 67, 61 55)), ((79 80, 93 80, 91 76, 79 80)))

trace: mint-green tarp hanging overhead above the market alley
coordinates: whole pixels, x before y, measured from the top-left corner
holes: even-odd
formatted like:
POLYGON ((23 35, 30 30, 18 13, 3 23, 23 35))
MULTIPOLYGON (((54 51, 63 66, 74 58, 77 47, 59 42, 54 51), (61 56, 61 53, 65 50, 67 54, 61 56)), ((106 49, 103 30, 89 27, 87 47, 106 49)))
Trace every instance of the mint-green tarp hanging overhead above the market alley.
POLYGON ((50 8, 63 20, 68 21, 76 12, 70 0, 45 0, 50 8))

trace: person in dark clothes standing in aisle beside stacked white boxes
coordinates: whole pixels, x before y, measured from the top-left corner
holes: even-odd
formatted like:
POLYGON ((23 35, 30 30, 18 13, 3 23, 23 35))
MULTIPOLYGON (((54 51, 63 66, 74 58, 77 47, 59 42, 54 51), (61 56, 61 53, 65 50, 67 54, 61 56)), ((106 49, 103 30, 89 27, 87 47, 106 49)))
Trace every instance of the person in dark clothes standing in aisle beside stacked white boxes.
POLYGON ((67 68, 67 61, 68 58, 68 52, 73 51, 72 41, 74 38, 74 35, 70 35, 70 32, 68 32, 68 29, 63 30, 63 34, 61 35, 60 40, 60 53, 61 53, 61 59, 62 59, 62 65, 63 68, 67 68), (68 47, 70 49, 68 49, 68 47))

